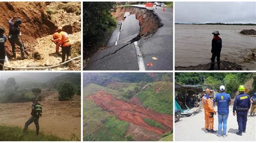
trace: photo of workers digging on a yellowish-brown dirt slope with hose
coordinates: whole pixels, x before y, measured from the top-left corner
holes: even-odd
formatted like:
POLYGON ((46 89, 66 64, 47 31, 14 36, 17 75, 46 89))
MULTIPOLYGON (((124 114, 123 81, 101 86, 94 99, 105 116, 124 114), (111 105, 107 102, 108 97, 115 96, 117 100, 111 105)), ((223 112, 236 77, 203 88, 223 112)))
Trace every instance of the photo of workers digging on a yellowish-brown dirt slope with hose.
POLYGON ((81 2, 0 5, 0 70, 81 70, 81 2))

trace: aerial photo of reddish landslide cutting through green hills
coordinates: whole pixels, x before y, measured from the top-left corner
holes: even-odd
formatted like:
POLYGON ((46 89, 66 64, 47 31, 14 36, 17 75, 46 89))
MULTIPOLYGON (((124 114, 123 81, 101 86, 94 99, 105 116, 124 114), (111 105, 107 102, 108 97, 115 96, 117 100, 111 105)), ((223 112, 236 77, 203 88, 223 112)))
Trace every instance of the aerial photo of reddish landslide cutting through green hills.
POLYGON ((83 73, 84 141, 172 141, 173 73, 83 73))

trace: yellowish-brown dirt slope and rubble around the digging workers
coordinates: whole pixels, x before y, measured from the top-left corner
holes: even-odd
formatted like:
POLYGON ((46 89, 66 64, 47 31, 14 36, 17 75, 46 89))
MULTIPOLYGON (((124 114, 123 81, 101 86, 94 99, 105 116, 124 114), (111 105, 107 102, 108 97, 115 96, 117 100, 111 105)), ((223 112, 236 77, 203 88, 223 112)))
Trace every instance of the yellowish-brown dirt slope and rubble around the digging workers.
MULTIPOLYGON (((0 26, 9 33, 8 21, 14 16, 22 19, 21 37, 28 59, 21 59, 20 48, 16 45, 16 59, 12 58, 10 42, 5 42, 6 58, 4 70, 80 70, 81 18, 79 2, 1 2, 0 26), (64 65, 62 56, 55 52, 55 44, 50 40, 58 26, 69 34, 71 57, 64 65), (43 68, 55 66, 52 68, 43 68), (35 67, 35 68, 34 68, 35 67), (38 69, 37 69, 38 68, 38 69)), ((59 47, 62 54, 62 48, 59 47)))

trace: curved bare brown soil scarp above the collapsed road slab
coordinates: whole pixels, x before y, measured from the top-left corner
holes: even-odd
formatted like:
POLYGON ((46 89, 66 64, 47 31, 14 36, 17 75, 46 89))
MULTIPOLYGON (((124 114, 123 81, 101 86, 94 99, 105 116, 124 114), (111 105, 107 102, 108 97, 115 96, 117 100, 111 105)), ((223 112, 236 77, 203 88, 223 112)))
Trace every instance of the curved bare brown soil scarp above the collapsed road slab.
POLYGON ((140 36, 153 34, 162 26, 156 13, 145 8, 137 8, 134 6, 117 7, 116 11, 112 12, 112 16, 117 20, 123 20, 125 12, 136 15, 136 19, 139 20, 140 25, 140 36))

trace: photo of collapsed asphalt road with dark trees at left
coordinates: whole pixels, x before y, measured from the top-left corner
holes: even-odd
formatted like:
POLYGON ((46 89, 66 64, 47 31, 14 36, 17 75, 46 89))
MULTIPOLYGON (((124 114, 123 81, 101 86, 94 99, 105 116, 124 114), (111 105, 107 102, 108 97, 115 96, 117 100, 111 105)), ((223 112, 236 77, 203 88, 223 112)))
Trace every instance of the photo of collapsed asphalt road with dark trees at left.
POLYGON ((84 70, 173 69, 173 2, 83 2, 83 21, 84 70))

